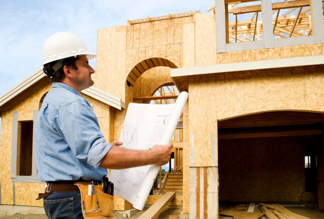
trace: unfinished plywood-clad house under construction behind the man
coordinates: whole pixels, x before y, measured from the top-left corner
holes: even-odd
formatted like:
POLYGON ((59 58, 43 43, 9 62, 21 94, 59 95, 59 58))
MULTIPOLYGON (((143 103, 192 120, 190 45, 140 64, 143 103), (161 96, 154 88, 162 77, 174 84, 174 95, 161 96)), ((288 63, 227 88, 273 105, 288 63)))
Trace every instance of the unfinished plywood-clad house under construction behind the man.
MULTIPOLYGON (((82 95, 112 142, 129 103, 168 104, 189 93, 173 138, 175 173, 160 187, 176 192, 169 205, 190 218, 218 218, 218 202, 324 211, 323 6, 216 0, 214 13, 99 29, 95 84, 82 95)), ((50 88, 39 69, 0 97, 1 204, 42 206, 33 127, 50 88)), ((131 208, 114 196, 114 210, 131 208)))

